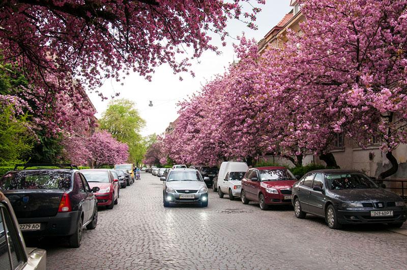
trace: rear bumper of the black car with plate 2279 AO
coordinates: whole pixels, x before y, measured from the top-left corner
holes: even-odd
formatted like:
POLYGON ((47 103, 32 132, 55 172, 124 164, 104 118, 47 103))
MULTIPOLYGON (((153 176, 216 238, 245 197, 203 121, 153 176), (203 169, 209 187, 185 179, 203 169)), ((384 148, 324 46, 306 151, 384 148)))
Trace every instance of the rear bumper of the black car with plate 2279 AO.
POLYGON ((41 223, 40 230, 21 231, 24 237, 66 236, 71 235, 77 228, 80 212, 57 213, 53 217, 21 218, 19 224, 41 223))

